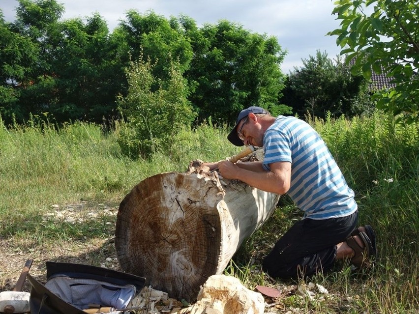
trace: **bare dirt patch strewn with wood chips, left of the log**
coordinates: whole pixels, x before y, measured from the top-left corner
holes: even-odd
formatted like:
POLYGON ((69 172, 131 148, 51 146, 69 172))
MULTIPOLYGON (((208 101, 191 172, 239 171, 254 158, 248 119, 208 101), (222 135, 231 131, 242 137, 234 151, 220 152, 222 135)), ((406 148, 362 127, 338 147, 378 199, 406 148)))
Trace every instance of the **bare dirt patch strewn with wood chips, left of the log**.
MULTIPOLYGON (((102 266, 120 271, 115 251, 114 236, 118 207, 115 205, 92 204, 81 201, 65 206, 52 205, 43 216, 44 222, 57 226, 65 223, 74 228, 90 221, 103 221, 105 236, 69 238, 68 241, 37 241, 37 236, 21 239, 18 236, 0 237, 0 291, 13 289, 25 262, 33 259, 30 275, 40 282, 46 281, 45 262, 48 260, 102 266)), ((60 228, 60 227, 58 227, 60 228)), ((28 282, 23 291, 30 291, 28 282)))

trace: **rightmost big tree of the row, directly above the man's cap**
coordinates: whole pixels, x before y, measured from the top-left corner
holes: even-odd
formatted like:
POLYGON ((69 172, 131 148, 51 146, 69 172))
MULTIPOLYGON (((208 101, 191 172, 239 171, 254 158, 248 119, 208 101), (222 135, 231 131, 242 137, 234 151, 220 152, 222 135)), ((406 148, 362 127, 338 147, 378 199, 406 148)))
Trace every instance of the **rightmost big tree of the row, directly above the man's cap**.
POLYGON ((196 24, 182 17, 194 56, 185 78, 195 86, 190 100, 201 120, 234 122, 248 106, 279 114, 278 95, 284 76, 279 68, 285 53, 276 38, 251 33, 229 21, 196 24))

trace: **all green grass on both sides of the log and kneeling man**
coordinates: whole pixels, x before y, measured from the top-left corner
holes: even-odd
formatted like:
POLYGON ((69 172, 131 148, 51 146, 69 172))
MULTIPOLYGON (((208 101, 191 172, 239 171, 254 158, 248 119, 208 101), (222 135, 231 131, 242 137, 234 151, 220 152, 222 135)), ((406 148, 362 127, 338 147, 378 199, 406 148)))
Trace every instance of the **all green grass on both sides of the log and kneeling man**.
MULTIPOLYGON (((374 269, 357 273, 337 263, 334 272, 306 282, 273 282, 260 262, 278 236, 301 218, 284 197, 274 215, 245 242, 226 269, 246 286, 286 285, 283 312, 417 313, 419 309, 419 123, 397 125, 393 117, 315 120, 336 161, 356 192, 359 223, 378 236, 374 269), (329 290, 313 300, 298 296, 297 286, 314 282, 329 290)), ((119 127, 74 123, 60 128, 28 123, 6 128, 0 120, 0 241, 25 254, 33 247, 75 247, 113 236, 116 217, 102 205, 117 208, 144 178, 166 171, 184 172, 194 159, 216 161, 239 151, 226 140, 225 126, 203 124, 180 130, 168 151, 149 159, 127 158, 118 145, 119 127), (85 223, 52 220, 54 204, 89 204, 98 215, 85 223)), ((106 249, 113 245, 106 242, 106 249)), ((104 254, 95 252, 96 255, 104 254)), ((97 257, 96 257, 97 258, 97 257)), ((4 279, 2 279, 4 280, 4 279)), ((0 280, 1 282, 1 280, 0 280)), ((282 311, 282 310, 278 310, 282 311)))

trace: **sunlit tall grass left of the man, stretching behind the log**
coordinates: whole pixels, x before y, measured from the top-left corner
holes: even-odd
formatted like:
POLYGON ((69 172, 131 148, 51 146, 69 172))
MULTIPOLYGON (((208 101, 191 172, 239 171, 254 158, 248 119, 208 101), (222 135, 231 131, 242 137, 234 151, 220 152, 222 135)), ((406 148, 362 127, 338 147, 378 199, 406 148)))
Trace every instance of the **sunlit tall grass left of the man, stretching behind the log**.
POLYGON ((193 159, 222 159, 237 150, 221 140, 225 128, 205 124, 196 132, 180 132, 168 153, 128 159, 120 152, 118 130, 117 125, 115 132, 105 134, 89 123, 58 128, 34 121, 6 128, 0 120, 0 234, 39 222, 37 214, 53 204, 118 203, 150 175, 183 172, 193 159))

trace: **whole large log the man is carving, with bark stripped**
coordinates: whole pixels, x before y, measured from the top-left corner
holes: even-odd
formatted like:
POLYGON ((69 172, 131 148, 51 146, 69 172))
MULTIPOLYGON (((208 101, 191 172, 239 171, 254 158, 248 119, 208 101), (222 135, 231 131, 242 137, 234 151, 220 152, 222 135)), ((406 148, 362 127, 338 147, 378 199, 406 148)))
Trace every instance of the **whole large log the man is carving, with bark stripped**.
POLYGON ((153 175, 120 203, 115 246, 122 270, 178 300, 196 300, 279 199, 208 170, 153 175))

